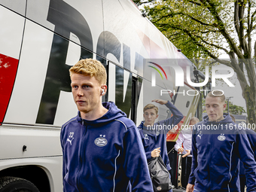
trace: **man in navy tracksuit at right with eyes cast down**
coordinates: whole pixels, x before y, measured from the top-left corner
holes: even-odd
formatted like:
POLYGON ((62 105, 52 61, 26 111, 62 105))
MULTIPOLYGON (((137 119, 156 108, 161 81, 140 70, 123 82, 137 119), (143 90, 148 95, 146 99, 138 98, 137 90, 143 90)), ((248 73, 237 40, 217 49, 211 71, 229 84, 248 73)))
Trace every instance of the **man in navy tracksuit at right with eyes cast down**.
POLYGON ((245 132, 223 113, 226 105, 221 91, 206 96, 208 116, 194 126, 187 191, 240 191, 239 159, 245 165, 247 191, 256 191, 253 152, 245 132))

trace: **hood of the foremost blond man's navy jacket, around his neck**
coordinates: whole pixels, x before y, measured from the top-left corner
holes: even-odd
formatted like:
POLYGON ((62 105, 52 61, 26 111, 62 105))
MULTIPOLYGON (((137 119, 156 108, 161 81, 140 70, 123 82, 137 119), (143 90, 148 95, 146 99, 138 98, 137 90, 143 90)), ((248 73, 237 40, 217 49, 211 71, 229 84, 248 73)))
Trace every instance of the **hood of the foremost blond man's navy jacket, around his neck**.
POLYGON ((102 105, 103 107, 108 109, 108 111, 102 117, 99 117, 99 119, 96 120, 84 120, 81 118, 80 111, 78 111, 78 122, 84 121, 84 123, 99 124, 100 126, 102 126, 102 124, 108 123, 114 119, 126 117, 126 114, 119 108, 117 108, 117 105, 115 105, 114 102, 102 102, 102 105))

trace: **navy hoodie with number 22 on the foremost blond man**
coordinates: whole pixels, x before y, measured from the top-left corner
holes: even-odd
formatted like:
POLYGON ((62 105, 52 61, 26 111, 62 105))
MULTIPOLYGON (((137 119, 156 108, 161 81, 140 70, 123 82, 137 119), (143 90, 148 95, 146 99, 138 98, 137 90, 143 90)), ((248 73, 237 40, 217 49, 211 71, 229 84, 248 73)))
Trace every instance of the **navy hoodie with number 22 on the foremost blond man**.
POLYGON ((97 120, 78 116, 62 126, 63 190, 153 191, 139 132, 132 120, 105 102, 108 112, 97 120))

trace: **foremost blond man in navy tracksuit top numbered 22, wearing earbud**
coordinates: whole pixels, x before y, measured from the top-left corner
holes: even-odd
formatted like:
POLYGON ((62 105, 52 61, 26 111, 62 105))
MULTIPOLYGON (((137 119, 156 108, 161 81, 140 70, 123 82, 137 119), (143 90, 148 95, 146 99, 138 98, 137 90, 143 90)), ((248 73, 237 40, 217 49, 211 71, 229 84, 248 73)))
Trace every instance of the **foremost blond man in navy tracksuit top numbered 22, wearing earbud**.
POLYGON ((63 190, 153 191, 139 131, 114 105, 102 103, 107 86, 102 63, 82 59, 70 70, 78 116, 62 126, 63 190))

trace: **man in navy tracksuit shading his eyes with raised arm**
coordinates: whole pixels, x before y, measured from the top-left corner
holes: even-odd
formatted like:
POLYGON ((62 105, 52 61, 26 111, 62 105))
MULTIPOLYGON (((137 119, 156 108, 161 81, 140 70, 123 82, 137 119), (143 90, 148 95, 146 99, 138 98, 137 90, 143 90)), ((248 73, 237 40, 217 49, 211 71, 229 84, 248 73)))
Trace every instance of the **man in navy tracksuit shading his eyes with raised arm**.
POLYGON ((152 157, 158 157, 160 155, 169 171, 171 167, 169 166, 169 158, 166 149, 166 133, 171 129, 175 129, 175 126, 182 120, 183 114, 169 101, 154 99, 152 102, 166 105, 166 107, 172 111, 172 117, 154 123, 158 117, 158 108, 153 104, 145 105, 143 109, 145 121, 140 123, 138 129, 142 137, 147 160, 151 160, 152 157))

